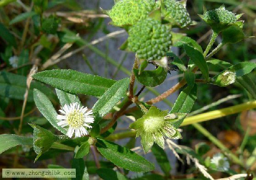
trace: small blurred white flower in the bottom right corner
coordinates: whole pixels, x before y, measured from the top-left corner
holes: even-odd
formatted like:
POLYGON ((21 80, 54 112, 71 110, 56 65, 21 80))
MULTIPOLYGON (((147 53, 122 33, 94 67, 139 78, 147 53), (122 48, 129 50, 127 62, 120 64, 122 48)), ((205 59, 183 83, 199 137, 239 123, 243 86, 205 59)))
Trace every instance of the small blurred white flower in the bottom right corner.
POLYGON ((229 168, 228 158, 221 153, 214 154, 211 158, 211 164, 214 164, 219 171, 227 171, 229 168))

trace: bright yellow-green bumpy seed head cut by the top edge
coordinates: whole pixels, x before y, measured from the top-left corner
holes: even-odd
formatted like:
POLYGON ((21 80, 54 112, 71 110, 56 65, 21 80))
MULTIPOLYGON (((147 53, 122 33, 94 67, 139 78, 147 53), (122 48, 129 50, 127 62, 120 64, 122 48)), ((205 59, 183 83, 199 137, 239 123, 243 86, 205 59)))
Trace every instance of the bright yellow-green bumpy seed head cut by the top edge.
POLYGON ((145 19, 154 5, 155 0, 119 0, 107 14, 115 26, 133 25, 145 19))

